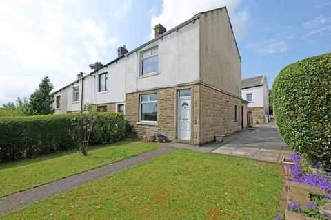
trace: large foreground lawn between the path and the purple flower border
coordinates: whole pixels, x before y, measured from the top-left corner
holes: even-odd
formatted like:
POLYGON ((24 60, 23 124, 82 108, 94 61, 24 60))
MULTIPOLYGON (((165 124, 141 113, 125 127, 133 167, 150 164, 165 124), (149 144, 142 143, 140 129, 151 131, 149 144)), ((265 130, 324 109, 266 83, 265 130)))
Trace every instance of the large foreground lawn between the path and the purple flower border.
POLYGON ((279 170, 179 149, 0 219, 274 219, 279 170))

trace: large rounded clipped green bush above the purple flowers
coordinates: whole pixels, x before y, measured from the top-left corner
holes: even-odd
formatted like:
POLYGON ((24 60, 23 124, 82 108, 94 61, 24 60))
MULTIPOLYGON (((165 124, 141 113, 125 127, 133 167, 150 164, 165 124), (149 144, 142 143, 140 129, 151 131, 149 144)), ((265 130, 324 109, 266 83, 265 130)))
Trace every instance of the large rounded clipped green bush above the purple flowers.
POLYGON ((331 54, 292 63, 272 87, 279 133, 290 148, 331 167, 331 54))

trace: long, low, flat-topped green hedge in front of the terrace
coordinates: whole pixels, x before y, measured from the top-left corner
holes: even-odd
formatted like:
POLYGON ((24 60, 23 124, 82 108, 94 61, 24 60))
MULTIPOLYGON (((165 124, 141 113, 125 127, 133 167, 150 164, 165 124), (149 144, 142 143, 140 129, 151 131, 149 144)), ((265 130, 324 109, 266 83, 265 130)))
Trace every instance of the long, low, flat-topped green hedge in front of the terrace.
MULTIPOLYGON (((84 113, 97 119, 90 144, 122 140, 126 120, 119 113, 84 113)), ((75 148, 68 129, 75 114, 0 118, 0 162, 36 157, 75 148)))

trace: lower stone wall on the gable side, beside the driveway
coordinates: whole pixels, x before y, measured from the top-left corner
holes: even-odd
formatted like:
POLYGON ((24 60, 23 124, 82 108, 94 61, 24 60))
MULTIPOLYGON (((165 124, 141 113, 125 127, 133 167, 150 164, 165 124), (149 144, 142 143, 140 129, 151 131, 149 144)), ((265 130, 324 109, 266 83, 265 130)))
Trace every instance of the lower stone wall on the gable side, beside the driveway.
POLYGON ((244 107, 244 127, 246 127, 245 102, 217 89, 200 85, 199 144, 214 141, 214 135, 217 133, 228 135, 241 130, 241 106, 244 107), (234 120, 234 105, 237 105, 237 120, 234 120))

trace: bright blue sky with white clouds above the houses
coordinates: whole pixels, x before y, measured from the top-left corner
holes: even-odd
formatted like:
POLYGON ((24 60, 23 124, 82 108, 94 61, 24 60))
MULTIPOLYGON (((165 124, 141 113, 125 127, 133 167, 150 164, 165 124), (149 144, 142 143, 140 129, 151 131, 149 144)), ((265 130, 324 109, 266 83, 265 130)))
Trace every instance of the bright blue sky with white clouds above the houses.
POLYGON ((0 106, 30 96, 44 76, 54 90, 117 47, 146 43, 194 14, 227 6, 241 54, 241 76, 267 75, 331 52, 331 0, 12 0, 0 1, 0 106))

